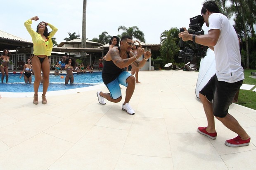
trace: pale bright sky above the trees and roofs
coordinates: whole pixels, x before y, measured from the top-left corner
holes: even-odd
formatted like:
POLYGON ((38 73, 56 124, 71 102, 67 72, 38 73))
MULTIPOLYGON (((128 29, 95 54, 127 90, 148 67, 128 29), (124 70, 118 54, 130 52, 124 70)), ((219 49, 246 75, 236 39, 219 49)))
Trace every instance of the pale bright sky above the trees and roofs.
MULTIPOLYGON (((190 18, 201 14, 204 0, 87 0, 86 38, 99 38, 106 31, 114 36, 119 26, 137 26, 145 34, 149 44, 160 44, 160 35, 172 27, 188 28, 190 18)), ((58 28, 55 34, 57 44, 76 32, 82 38, 83 0, 7 0, 2 3, 0 30, 17 37, 31 40, 24 22, 38 16, 32 28, 40 21, 58 28)), ((205 33, 208 32, 205 24, 205 33)), ((48 26, 48 30, 51 30, 48 26)))

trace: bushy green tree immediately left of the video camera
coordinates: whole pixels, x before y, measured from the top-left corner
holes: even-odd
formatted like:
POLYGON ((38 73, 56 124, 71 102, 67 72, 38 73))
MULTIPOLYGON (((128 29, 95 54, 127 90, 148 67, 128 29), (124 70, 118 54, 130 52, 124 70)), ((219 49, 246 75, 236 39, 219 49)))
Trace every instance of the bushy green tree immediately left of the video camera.
POLYGON ((178 28, 171 28, 161 33, 161 58, 165 63, 173 62, 174 56, 177 56, 180 48, 178 47, 178 28))

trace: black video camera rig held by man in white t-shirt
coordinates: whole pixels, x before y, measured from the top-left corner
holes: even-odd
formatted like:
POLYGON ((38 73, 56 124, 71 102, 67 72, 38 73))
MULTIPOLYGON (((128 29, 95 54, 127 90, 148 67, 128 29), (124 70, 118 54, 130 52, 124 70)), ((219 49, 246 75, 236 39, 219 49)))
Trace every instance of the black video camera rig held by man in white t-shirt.
MULTIPOLYGON (((188 32, 190 34, 195 35, 204 35, 204 30, 202 30, 202 26, 204 24, 204 18, 201 15, 195 16, 193 18, 190 18, 190 24, 189 24, 189 30, 188 32)), ((183 32, 184 29, 180 28, 180 32, 183 32)), ((188 46, 185 46, 185 42, 180 38, 180 53, 179 58, 182 58, 182 61, 192 61, 195 60, 194 58, 204 58, 207 51, 207 46, 202 46, 200 44, 195 44, 194 51, 189 48, 188 46)))

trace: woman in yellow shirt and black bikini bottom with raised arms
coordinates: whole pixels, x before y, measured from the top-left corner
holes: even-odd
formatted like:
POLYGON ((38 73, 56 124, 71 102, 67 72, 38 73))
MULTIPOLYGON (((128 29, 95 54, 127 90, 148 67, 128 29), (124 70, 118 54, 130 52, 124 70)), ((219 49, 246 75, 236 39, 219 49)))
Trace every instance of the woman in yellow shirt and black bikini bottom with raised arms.
POLYGON ((42 103, 46 104, 46 92, 49 86, 49 74, 50 74, 50 63, 48 56, 52 53, 52 37, 57 32, 57 28, 50 23, 40 22, 36 27, 36 31, 31 28, 32 21, 38 21, 38 16, 34 16, 28 19, 24 25, 28 31, 28 33, 32 37, 34 53, 31 57, 31 61, 33 62, 33 71, 35 74, 34 81, 34 99, 33 103, 38 104, 38 88, 40 85, 41 79, 41 70, 43 71, 43 94, 42 94, 42 103), (52 29, 51 32, 48 33, 47 25, 52 29))

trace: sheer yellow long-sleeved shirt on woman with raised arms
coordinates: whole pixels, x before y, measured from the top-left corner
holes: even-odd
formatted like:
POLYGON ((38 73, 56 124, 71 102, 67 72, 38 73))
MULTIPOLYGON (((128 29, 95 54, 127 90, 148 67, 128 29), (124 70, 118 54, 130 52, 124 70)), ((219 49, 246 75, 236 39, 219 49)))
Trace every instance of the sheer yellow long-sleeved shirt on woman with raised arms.
POLYGON ((45 39, 43 39, 42 36, 38 32, 35 32, 31 28, 31 24, 32 24, 32 20, 31 19, 28 19, 24 23, 26 29, 28 30, 28 33, 32 37, 33 48, 34 48, 33 54, 34 55, 47 55, 47 56, 50 56, 51 53, 52 53, 52 46, 53 46, 53 44, 52 44, 52 37, 55 35, 55 33, 57 32, 58 29, 55 26, 53 26, 52 24, 48 23, 48 25, 52 29, 52 32, 50 32, 50 34, 48 36, 49 44, 46 46, 45 39))

